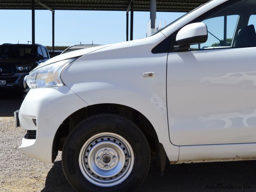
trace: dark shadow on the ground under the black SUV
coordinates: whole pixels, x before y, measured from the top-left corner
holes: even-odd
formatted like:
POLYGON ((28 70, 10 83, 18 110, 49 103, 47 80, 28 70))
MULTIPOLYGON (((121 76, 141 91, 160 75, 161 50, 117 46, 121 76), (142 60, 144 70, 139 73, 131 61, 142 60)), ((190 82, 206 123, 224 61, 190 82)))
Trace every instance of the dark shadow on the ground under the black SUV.
POLYGON ((24 93, 15 91, 0 92, 0 117, 12 117, 13 112, 20 109, 24 93))

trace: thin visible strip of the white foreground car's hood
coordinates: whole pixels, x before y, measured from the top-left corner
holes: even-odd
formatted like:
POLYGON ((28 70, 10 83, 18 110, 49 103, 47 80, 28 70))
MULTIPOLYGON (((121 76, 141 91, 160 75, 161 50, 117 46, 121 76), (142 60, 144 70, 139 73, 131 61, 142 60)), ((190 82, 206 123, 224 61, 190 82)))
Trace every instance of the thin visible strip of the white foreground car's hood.
POLYGON ((94 52, 94 51, 97 51, 99 49, 111 46, 111 45, 112 44, 101 45, 101 46, 96 46, 96 47, 91 47, 91 48, 86 48, 86 49, 80 49, 80 50, 77 50, 77 51, 67 52, 65 54, 60 54, 58 56, 53 57, 52 59, 49 59, 49 60, 45 61, 44 63, 41 63, 35 69, 43 67, 43 66, 51 64, 51 63, 55 63, 55 62, 61 61, 61 60, 66 60, 66 59, 70 59, 70 58, 75 58, 75 57, 83 56, 83 55, 85 55, 87 53, 94 52))

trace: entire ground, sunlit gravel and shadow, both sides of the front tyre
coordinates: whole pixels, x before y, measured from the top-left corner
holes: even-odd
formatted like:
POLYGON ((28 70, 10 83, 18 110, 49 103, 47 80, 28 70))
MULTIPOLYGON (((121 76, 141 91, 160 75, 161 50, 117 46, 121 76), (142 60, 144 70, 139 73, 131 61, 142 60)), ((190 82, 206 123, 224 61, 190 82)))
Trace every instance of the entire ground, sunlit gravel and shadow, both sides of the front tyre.
MULTIPOLYGON (((73 192, 62 171, 60 152, 53 164, 46 164, 19 151, 25 131, 15 128, 12 116, 21 102, 20 96, 0 94, 0 191, 73 192)), ((137 191, 255 192, 255 170, 255 161, 177 164, 168 166, 161 176, 153 160, 146 180, 137 191), (225 186, 241 189, 223 189, 225 186)))

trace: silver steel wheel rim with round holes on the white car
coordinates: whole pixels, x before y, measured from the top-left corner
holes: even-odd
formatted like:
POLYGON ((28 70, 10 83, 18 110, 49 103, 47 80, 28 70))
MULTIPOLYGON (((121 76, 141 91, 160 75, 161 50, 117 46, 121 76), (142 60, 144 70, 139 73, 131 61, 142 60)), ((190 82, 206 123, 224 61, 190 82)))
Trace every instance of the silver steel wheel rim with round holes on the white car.
POLYGON ((84 143, 78 162, 88 181, 101 187, 111 187, 123 182, 132 172, 134 153, 122 136, 102 132, 84 143))

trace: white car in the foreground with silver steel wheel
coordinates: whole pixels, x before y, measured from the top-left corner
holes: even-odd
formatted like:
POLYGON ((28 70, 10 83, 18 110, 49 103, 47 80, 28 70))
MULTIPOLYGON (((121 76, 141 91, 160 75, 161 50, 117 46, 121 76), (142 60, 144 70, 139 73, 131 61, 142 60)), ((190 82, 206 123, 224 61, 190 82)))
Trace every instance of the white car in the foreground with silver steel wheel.
POLYGON ((47 163, 62 151, 76 191, 133 191, 152 156, 162 172, 255 159, 255 87, 200 82, 256 71, 255 13, 255 0, 212 0, 147 38, 44 62, 26 77, 30 90, 15 112, 28 130, 19 149, 47 163))

